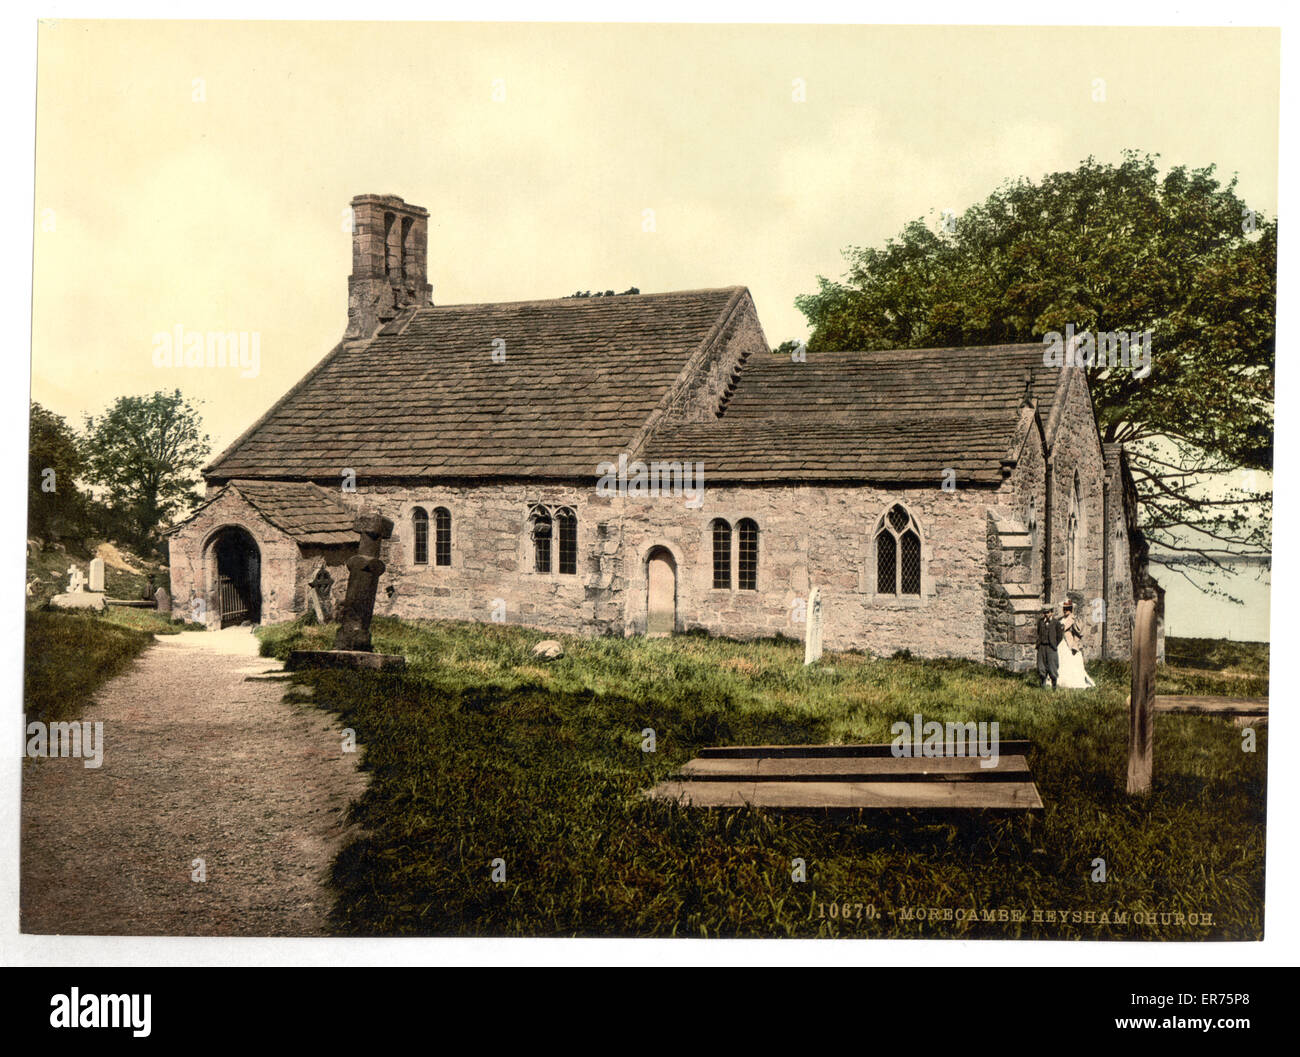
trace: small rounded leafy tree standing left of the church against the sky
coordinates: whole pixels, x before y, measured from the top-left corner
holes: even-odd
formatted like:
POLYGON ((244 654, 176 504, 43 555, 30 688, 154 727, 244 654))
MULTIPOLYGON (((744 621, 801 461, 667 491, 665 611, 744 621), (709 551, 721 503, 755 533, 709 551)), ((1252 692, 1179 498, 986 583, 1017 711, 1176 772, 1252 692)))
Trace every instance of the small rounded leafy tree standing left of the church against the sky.
POLYGON ((208 452, 199 413, 179 389, 120 397, 98 419, 86 416, 86 476, 140 545, 198 502, 196 475, 208 452))

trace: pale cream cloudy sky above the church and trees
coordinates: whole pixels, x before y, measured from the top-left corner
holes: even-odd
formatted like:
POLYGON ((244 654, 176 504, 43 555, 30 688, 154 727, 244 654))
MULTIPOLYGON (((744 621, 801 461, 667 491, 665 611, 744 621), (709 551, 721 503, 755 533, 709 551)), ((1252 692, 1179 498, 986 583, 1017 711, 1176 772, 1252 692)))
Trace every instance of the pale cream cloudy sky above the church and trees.
POLYGON ((178 386, 220 451, 341 337, 356 194, 430 211, 436 303, 745 285, 772 345, 807 335, 794 296, 844 247, 1088 155, 1214 163, 1274 216, 1278 48, 1227 29, 44 23, 32 398, 79 425, 178 386), (260 374, 156 368, 177 325, 256 332, 260 374))

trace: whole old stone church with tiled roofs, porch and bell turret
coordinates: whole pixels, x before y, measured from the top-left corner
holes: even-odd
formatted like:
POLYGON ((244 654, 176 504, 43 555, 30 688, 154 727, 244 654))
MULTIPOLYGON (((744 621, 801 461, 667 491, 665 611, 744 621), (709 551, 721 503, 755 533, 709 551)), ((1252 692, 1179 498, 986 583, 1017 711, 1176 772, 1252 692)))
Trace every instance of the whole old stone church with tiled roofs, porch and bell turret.
POLYGON ((742 286, 436 306, 428 212, 352 209, 347 332, 204 469, 178 607, 337 605, 367 510, 381 615, 800 637, 815 585, 828 649, 1023 670, 1070 597, 1127 657, 1131 478, 1043 345, 777 356, 742 286))

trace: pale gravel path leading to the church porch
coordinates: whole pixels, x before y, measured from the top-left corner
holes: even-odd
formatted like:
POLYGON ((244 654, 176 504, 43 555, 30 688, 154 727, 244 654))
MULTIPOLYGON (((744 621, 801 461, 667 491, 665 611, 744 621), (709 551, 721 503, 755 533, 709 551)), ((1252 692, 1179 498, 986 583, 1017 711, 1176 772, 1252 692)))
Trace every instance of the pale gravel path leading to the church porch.
POLYGON ((324 932, 365 776, 333 716, 248 677, 278 668, 247 628, 160 636, 81 716, 104 724, 101 767, 23 761, 23 932, 324 932))

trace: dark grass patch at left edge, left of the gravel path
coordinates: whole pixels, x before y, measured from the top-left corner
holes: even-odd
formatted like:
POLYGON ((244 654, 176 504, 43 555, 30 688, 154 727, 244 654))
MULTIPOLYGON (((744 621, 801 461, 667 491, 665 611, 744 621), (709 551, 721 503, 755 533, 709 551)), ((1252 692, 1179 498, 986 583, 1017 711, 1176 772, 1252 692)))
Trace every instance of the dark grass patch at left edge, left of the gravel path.
POLYGON ((27 612, 22 697, 27 720, 66 720, 150 642, 148 632, 88 612, 27 612))

